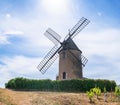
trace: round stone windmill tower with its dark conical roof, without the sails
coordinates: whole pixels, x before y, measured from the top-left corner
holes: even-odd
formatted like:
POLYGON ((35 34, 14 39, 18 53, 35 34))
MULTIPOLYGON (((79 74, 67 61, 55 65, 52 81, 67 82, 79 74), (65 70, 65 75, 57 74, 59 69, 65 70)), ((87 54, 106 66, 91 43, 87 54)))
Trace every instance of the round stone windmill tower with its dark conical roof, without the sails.
POLYGON ((59 52, 59 76, 58 79, 83 78, 82 62, 80 59, 82 52, 71 38, 59 52))

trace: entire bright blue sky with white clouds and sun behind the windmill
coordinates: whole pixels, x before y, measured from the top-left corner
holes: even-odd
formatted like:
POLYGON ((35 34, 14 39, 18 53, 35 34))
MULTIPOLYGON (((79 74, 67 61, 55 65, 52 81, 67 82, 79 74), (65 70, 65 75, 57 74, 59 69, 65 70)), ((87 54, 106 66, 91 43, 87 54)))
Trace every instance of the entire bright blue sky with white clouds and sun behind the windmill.
POLYGON ((81 17, 90 20, 74 38, 89 60, 84 77, 120 84, 119 0, 0 0, 0 87, 15 77, 55 79, 58 60, 44 75, 36 68, 54 46, 44 32, 63 39, 81 17))

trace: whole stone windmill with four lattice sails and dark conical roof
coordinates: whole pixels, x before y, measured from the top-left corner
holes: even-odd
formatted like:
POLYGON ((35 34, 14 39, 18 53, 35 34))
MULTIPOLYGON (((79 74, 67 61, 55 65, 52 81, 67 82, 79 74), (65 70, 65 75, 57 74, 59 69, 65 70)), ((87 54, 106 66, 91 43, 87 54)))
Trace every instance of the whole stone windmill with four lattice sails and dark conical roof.
POLYGON ((82 51, 72 40, 87 24, 89 20, 82 17, 78 23, 69 30, 63 42, 61 37, 52 29, 48 28, 44 35, 55 45, 38 65, 38 70, 42 74, 54 63, 59 56, 59 76, 57 79, 83 78, 82 68, 85 67, 88 59, 82 55, 82 51))

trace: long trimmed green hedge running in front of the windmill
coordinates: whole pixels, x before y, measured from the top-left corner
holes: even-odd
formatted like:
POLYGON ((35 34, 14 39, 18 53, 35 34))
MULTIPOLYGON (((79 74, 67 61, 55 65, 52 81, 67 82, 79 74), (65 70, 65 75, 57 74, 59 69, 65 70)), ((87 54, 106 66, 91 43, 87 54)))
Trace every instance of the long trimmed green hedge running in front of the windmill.
POLYGON ((34 80, 15 78, 5 84, 6 88, 15 90, 40 90, 40 91, 64 91, 86 92, 91 88, 99 87, 101 91, 106 87, 107 91, 114 91, 115 81, 101 79, 72 79, 72 80, 34 80))

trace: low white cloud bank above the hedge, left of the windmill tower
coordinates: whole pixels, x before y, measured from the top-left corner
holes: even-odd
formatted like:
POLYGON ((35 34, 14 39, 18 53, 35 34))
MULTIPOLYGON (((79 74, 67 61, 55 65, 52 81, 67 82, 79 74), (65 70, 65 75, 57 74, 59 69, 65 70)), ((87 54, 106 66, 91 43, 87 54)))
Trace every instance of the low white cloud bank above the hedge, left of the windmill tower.
POLYGON ((37 69, 41 58, 31 58, 25 56, 2 57, 0 61, 4 65, 0 65, 0 87, 4 87, 10 79, 15 77, 45 79, 55 79, 57 71, 55 67, 51 67, 44 75, 37 69))

